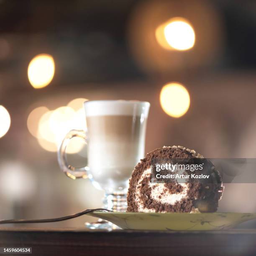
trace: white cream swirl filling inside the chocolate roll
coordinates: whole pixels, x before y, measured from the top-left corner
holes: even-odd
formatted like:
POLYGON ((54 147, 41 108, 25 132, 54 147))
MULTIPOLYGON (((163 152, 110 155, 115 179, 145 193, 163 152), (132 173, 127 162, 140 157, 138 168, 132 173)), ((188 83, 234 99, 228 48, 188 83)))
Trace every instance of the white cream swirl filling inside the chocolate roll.
MULTIPOLYGON (((143 205, 143 200, 140 198, 140 187, 141 187, 141 182, 144 178, 150 177, 151 174, 151 169, 146 169, 143 174, 141 175, 141 178, 138 181, 137 187, 136 187, 136 194, 135 194, 135 201, 138 205, 138 211, 139 212, 155 212, 154 209, 148 209, 143 205)), ((164 186, 164 183, 149 183, 148 186, 151 187, 151 198, 156 200, 157 202, 160 202, 162 204, 169 204, 169 205, 174 205, 176 202, 179 202, 183 198, 187 197, 187 191, 188 187, 187 184, 181 183, 180 184, 183 189, 182 192, 177 193, 177 194, 169 194, 168 192, 164 192, 164 189, 166 187, 164 186), (163 195, 161 195, 161 193, 163 195), (161 198, 159 198, 159 196, 161 198)))

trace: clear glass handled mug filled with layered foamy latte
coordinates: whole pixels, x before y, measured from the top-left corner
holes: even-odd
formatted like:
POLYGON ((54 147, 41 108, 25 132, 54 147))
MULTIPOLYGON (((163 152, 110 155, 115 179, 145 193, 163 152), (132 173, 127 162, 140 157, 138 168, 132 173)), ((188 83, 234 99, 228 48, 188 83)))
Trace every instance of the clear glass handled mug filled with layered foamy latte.
POLYGON ((59 147, 61 170, 72 179, 88 177, 95 187, 105 190, 104 208, 126 210, 129 178, 144 157, 149 107, 149 102, 135 100, 86 101, 87 131, 69 131, 59 147), (87 143, 88 166, 67 163, 65 150, 74 137, 87 143))

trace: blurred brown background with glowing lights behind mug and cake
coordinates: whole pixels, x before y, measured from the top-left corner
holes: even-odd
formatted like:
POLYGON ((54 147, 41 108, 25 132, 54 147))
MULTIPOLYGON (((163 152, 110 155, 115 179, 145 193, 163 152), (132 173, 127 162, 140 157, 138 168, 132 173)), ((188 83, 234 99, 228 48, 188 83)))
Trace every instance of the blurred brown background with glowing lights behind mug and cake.
MULTIPOLYGON (((84 100, 150 102, 146 152, 256 157, 256 2, 0 0, 0 24, 0 219, 101 206, 103 191, 57 163, 67 131, 86 127, 84 100)), ((82 141, 68 152, 86 164, 82 141)), ((254 193, 227 184, 218 211, 256 212, 254 193)))

